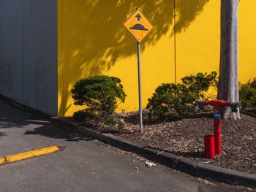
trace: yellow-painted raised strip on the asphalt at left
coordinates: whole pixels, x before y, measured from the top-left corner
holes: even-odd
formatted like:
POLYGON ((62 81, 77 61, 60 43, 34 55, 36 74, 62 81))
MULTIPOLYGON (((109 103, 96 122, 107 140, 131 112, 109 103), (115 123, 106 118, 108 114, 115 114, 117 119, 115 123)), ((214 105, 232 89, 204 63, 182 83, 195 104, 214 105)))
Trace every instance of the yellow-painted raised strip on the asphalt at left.
POLYGON ((35 158, 38 156, 42 156, 42 155, 47 155, 50 153, 55 153, 60 151, 61 148, 58 146, 52 146, 52 147, 46 147, 46 148, 42 148, 39 150, 31 150, 25 153, 18 153, 15 155, 8 155, 5 156, 4 158, 0 158, 0 164, 10 164, 16 161, 22 161, 24 159, 28 159, 28 158, 35 158))

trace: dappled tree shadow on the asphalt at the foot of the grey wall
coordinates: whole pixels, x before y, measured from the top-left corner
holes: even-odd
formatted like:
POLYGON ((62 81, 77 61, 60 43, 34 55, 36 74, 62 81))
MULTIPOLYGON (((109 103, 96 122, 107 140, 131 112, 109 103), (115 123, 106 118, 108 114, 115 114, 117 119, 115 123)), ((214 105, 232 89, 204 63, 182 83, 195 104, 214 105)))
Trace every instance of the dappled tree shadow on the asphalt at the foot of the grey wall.
POLYGON ((93 140, 84 135, 77 134, 71 128, 60 126, 48 118, 14 109, 0 100, 0 137, 6 137, 4 129, 22 128, 24 134, 42 135, 53 139, 65 139, 69 142, 80 140, 93 140))

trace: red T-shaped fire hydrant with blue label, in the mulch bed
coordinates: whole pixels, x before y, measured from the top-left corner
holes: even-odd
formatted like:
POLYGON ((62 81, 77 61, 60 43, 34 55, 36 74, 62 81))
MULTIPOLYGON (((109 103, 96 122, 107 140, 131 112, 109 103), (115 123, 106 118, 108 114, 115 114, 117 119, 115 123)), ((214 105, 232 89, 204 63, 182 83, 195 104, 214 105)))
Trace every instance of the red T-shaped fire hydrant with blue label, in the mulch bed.
POLYGON ((232 112, 237 112, 241 102, 212 100, 212 101, 197 101, 200 109, 203 109, 204 105, 210 104, 214 107, 214 150, 217 155, 222 153, 221 143, 221 107, 229 106, 232 112))

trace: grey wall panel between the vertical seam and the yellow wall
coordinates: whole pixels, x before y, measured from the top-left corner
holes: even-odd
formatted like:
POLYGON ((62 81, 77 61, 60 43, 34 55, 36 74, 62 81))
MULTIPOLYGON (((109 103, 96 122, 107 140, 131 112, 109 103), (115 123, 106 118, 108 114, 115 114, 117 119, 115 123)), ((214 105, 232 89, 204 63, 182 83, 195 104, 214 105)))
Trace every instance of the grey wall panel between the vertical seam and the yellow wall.
POLYGON ((57 4, 23 0, 24 102, 57 115, 57 4))

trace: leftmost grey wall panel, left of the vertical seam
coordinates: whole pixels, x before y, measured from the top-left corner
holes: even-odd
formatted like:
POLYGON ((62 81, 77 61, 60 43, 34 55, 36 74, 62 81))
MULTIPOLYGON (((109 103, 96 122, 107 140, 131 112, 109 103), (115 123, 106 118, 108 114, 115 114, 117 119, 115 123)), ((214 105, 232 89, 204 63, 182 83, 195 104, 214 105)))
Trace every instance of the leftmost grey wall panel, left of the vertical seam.
POLYGON ((1 2, 1 93, 22 101, 21 1, 1 2))

